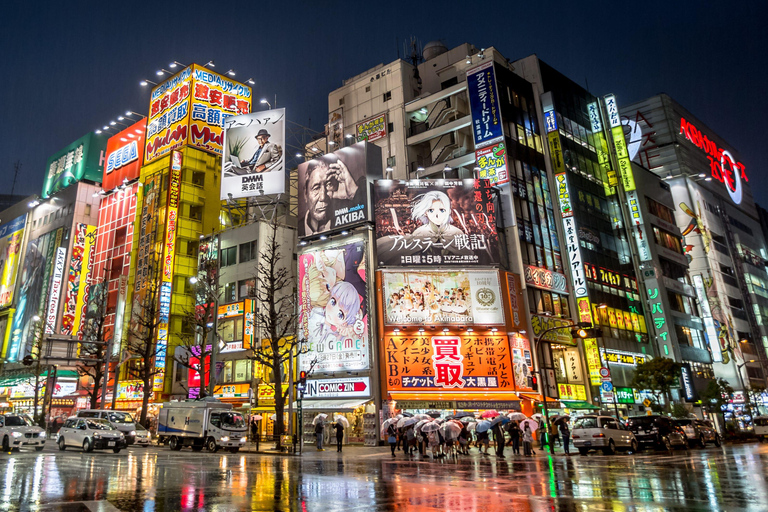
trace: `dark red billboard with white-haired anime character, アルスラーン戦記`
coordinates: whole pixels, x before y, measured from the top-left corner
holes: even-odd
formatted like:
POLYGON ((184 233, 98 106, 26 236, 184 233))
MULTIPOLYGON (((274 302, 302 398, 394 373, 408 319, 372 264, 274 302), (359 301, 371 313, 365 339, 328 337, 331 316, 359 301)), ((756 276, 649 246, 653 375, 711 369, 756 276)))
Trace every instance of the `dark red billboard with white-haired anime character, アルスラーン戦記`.
POLYGON ((379 265, 499 263, 496 205, 487 180, 379 180, 375 192, 379 265))

